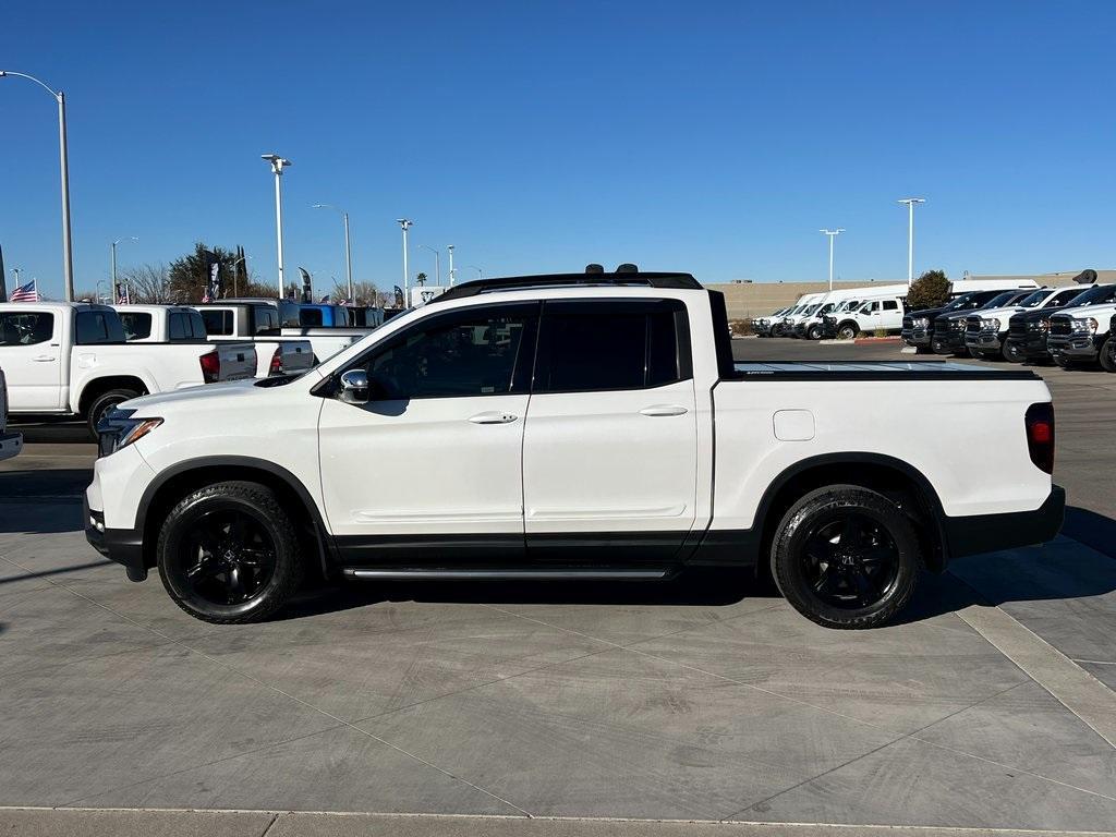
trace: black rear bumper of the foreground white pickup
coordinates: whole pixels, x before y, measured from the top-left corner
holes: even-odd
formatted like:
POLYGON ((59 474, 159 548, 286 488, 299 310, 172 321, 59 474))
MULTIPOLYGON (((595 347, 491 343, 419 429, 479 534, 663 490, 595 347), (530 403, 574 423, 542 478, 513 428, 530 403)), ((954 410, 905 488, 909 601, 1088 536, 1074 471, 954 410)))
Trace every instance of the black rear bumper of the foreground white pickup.
POLYGON ((1046 501, 1035 511, 946 517, 942 522, 946 557, 1045 543, 1061 531, 1065 513, 1066 489, 1052 485, 1046 501))

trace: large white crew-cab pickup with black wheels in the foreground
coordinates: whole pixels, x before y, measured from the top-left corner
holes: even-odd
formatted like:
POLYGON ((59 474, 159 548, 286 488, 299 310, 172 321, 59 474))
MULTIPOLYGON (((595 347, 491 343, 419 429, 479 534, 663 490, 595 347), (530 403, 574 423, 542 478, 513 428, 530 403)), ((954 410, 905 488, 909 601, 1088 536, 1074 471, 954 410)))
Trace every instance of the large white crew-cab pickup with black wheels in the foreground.
POLYGON ((87 538, 215 623, 310 573, 752 566, 819 624, 868 627, 922 568, 1048 540, 1065 506, 1031 372, 734 364, 724 297, 685 273, 465 282, 301 376, 136 398, 103 427, 87 538))

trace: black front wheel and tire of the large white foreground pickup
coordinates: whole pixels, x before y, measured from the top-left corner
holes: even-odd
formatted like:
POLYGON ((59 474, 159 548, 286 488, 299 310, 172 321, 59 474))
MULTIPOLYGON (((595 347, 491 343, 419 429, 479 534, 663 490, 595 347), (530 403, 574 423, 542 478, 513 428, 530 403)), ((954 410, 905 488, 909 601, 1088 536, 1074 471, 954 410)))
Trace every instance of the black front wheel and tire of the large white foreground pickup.
POLYGON ((194 618, 259 622, 298 588, 298 532, 275 492, 256 482, 218 482, 179 502, 158 535, 163 587, 194 618))

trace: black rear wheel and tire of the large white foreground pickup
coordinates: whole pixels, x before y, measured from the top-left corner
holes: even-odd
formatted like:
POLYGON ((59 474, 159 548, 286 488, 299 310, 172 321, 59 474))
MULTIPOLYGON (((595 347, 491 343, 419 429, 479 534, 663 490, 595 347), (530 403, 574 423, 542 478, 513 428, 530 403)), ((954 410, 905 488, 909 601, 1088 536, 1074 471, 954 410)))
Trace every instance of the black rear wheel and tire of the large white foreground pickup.
POLYGON ((771 575, 791 607, 824 627, 870 628, 914 593, 922 550, 914 526, 883 494, 827 485, 790 507, 771 543, 771 575))

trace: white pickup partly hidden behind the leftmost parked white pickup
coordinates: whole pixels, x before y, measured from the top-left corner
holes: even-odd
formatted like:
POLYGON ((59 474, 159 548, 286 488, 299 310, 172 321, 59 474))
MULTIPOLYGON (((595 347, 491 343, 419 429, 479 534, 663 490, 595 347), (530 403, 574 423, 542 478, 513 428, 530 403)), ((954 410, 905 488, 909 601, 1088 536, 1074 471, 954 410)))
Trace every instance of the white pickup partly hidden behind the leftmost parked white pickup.
MULTIPOLYGON (((305 372, 314 365, 309 340, 289 337, 261 337, 247 331, 210 334, 205 318, 189 306, 119 305, 113 306, 124 324, 128 343, 240 343, 256 348, 256 377, 305 372)), ((228 315, 231 317, 232 315, 228 315)), ((218 317, 221 317, 219 314, 218 317)))

